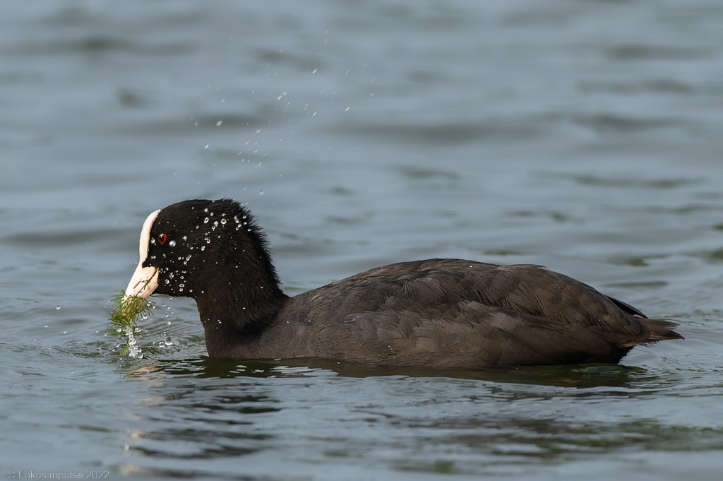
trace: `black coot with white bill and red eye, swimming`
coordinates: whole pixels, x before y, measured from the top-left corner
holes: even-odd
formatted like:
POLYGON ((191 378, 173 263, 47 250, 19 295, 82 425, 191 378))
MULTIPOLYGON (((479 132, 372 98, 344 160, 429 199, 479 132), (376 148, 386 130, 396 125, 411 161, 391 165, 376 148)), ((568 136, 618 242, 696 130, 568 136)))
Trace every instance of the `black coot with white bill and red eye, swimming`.
POLYGON ((683 339, 674 323, 538 265, 431 259, 385 265, 287 297, 265 236, 233 200, 152 213, 127 296, 196 299, 213 357, 322 357, 482 367, 619 362, 683 339))

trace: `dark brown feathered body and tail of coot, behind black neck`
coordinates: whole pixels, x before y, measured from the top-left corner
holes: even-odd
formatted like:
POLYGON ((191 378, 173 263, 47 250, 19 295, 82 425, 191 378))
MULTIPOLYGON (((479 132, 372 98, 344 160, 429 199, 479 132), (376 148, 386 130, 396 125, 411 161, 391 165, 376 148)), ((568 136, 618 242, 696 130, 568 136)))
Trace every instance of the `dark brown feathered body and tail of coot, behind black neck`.
POLYGON ((284 315, 294 308, 301 355, 374 364, 617 362, 636 344, 680 337, 536 265, 393 264, 292 298, 284 315))

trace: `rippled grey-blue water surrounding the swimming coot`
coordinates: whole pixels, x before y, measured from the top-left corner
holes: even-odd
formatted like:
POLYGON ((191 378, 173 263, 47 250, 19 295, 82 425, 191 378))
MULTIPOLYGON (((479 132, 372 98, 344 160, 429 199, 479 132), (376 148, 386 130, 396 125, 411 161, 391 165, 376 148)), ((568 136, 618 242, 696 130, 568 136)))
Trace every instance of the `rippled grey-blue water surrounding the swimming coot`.
POLYGON ((269 3, 0 16, 2 469, 718 480, 723 5, 269 3), (192 301, 158 297, 145 358, 119 357, 108 299, 143 219, 224 196, 288 294, 424 257, 539 263, 686 339, 622 367, 228 361, 192 301))

